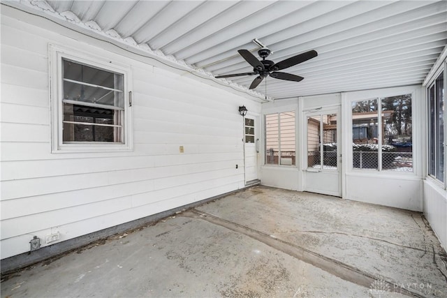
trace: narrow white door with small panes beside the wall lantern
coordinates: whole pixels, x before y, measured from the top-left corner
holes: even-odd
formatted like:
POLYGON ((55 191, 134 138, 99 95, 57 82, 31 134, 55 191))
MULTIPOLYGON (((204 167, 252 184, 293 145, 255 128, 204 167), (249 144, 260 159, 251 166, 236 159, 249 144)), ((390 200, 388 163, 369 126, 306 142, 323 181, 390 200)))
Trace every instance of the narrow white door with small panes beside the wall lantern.
POLYGON ((244 119, 245 184, 258 179, 258 144, 256 117, 244 119))

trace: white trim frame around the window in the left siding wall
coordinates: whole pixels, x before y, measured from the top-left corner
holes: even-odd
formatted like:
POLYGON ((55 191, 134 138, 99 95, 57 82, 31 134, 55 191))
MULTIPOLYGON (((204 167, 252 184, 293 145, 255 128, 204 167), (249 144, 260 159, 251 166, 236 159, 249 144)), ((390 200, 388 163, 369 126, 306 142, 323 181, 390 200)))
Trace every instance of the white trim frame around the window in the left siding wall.
POLYGON ((91 52, 68 49, 59 45, 49 46, 49 80, 50 80, 50 107, 51 107, 51 152, 52 153, 77 153, 77 152, 110 152, 133 150, 133 117, 132 107, 129 104, 131 94, 132 72, 130 66, 120 62, 110 61, 101 57, 111 55, 108 52, 97 53, 92 47, 91 52), (122 143, 98 143, 78 142, 65 143, 62 135, 63 103, 62 103, 62 59, 69 59, 80 64, 87 64, 96 68, 110 70, 124 75, 124 142, 122 143))

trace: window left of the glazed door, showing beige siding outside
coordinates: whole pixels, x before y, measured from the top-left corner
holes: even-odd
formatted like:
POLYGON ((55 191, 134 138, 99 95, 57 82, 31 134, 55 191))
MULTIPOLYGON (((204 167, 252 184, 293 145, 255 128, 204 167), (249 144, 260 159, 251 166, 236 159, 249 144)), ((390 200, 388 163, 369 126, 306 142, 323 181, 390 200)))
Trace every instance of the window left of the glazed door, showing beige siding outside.
POLYGON ((265 115, 265 164, 295 165, 295 111, 265 115))

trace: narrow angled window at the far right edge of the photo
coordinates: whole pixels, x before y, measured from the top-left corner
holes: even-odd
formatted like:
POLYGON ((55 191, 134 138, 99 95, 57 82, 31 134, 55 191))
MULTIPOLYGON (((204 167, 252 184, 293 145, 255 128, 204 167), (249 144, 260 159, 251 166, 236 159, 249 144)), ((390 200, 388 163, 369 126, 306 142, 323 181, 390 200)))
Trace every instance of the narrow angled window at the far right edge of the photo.
POLYGON ((428 174, 441 182, 444 182, 444 110, 444 72, 442 72, 428 88, 428 174))

